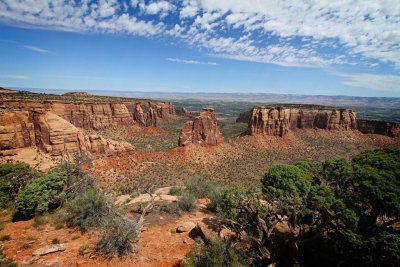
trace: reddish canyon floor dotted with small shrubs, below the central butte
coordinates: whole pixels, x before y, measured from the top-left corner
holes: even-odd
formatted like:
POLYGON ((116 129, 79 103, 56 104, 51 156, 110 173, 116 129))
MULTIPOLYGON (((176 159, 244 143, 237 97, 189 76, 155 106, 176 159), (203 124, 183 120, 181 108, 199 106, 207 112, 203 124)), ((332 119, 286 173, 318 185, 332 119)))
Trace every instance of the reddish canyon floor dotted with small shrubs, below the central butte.
POLYGON ((354 131, 299 130, 284 137, 248 136, 247 125, 222 121, 225 143, 210 146, 177 147, 177 136, 184 119, 169 118, 159 128, 98 131, 115 140, 125 140, 136 151, 94 159, 88 171, 104 185, 118 189, 121 184, 153 180, 159 186, 183 185, 196 173, 206 173, 223 183, 257 183, 274 164, 300 160, 349 159, 375 148, 399 146, 398 139, 365 135, 354 131))

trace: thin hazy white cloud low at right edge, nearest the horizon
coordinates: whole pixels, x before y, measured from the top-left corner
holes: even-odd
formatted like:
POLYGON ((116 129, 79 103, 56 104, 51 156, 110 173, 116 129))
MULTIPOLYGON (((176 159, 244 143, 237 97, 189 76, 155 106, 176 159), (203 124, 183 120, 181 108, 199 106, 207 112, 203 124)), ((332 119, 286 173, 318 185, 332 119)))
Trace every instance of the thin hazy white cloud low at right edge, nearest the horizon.
POLYGON ((399 92, 400 91, 400 76, 399 75, 384 75, 371 73, 334 73, 337 76, 343 77, 343 84, 368 88, 378 91, 399 92))

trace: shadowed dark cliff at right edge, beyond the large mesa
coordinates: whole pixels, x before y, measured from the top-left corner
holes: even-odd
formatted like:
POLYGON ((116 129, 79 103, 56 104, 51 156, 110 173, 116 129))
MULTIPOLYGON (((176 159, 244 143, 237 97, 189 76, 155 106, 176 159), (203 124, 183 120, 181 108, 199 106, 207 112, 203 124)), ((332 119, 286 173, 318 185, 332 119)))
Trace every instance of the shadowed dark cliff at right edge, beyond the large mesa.
POLYGON ((365 134, 381 134, 400 138, 400 122, 358 120, 358 130, 365 134))

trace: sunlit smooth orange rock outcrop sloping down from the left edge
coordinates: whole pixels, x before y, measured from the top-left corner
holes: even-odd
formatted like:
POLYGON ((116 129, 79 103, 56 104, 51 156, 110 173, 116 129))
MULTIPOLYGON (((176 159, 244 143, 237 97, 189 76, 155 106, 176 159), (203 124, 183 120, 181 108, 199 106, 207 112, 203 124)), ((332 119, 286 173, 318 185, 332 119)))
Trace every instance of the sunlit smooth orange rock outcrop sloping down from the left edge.
POLYGON ((113 154, 133 150, 128 143, 85 136, 60 116, 44 110, 0 111, 2 150, 37 147, 51 155, 113 154))

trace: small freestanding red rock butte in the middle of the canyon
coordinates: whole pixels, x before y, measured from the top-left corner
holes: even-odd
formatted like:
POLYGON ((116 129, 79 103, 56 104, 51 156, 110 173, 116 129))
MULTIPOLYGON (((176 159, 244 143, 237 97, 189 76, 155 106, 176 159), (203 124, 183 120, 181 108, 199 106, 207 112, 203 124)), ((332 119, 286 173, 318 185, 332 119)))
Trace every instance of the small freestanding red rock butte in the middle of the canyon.
POLYGON ((201 144, 215 146, 224 142, 215 116, 214 109, 204 108, 198 117, 182 126, 179 135, 179 146, 201 144))

